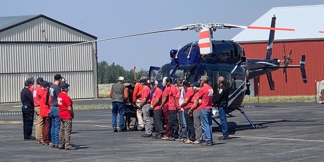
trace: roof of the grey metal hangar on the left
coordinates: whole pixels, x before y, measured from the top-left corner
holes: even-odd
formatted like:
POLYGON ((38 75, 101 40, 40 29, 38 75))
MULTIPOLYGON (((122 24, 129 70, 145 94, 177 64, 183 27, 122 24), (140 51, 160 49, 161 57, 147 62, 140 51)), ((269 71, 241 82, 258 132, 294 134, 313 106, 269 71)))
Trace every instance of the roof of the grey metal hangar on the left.
POLYGON ((63 26, 66 26, 66 27, 71 28, 71 29, 73 29, 73 30, 75 30, 75 31, 78 31, 78 32, 80 32, 80 33, 83 33, 83 34, 85 34, 85 35, 88 35, 88 36, 90 36, 90 37, 92 37, 92 38, 97 39, 97 37, 94 36, 94 35, 91 35, 91 34, 89 34, 89 33, 86 33, 86 32, 84 32, 84 31, 81 31, 81 30, 79 30, 79 29, 76 29, 76 28, 74 28, 74 27, 72 27, 72 26, 69 26, 69 25, 64 24, 64 23, 62 23, 62 22, 59 22, 59 21, 57 21, 57 20, 54 20, 54 19, 49 18, 49 17, 47 17, 47 16, 45 16, 45 15, 42 15, 42 14, 40 14, 40 15, 24 15, 24 16, 7 16, 7 17, 0 17, 0 32, 5 31, 5 30, 7 30, 7 29, 10 29, 10 28, 12 28, 12 27, 18 26, 18 25, 20 25, 20 24, 26 23, 26 22, 28 22, 28 21, 32 21, 32 20, 37 19, 37 18, 40 18, 40 17, 43 17, 43 18, 48 19, 48 20, 50 20, 50 21, 54 21, 54 22, 56 22, 56 23, 58 23, 58 24, 61 24, 61 25, 63 25, 63 26))

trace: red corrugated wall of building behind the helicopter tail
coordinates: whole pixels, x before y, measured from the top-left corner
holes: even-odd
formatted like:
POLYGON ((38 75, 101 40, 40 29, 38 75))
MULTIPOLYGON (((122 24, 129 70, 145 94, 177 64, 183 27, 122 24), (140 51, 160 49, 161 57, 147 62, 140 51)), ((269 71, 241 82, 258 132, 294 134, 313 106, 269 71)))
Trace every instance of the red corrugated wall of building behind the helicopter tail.
MULTIPOLYGON (((264 59, 267 50, 267 43, 239 43, 244 47, 247 58, 264 59)), ((260 77, 260 96, 292 96, 292 95, 315 95, 315 82, 324 73, 324 41, 286 41, 286 55, 292 50, 293 63, 299 65, 301 55, 306 55, 306 74, 308 83, 304 84, 300 68, 287 69, 288 83, 285 82, 283 69, 272 72, 276 91, 270 91, 266 75, 260 77)), ((283 42, 274 42, 272 58, 283 60, 283 42)), ((283 65, 283 64, 282 64, 283 65)), ((257 84, 255 84, 257 86, 257 84)))

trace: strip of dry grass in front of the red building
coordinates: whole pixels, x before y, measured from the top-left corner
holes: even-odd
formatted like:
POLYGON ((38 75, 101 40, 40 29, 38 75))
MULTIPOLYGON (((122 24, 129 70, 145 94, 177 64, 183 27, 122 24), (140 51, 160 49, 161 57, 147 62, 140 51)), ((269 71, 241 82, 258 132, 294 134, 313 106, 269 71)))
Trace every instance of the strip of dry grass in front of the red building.
POLYGON ((285 102, 316 102, 315 96, 260 96, 245 97, 243 103, 285 103, 285 102))

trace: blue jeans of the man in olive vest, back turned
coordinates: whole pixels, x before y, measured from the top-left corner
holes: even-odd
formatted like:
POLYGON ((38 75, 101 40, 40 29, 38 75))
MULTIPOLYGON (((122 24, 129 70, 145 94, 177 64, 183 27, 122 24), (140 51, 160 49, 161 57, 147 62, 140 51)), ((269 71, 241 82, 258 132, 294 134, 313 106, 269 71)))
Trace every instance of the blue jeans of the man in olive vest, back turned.
POLYGON ((124 114, 125 114, 125 103, 123 102, 112 102, 112 128, 117 128, 117 113, 119 112, 119 130, 124 129, 124 114))

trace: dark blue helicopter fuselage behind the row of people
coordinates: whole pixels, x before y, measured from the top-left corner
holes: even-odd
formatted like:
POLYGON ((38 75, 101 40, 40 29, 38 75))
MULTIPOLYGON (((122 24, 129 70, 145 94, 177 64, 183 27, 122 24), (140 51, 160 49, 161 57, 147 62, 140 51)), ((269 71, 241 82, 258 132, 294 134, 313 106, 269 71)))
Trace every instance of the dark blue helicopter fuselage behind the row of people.
POLYGON ((163 65, 157 72, 155 80, 162 85, 164 77, 184 77, 192 84, 201 75, 208 75, 209 85, 214 93, 218 92, 218 77, 224 76, 228 88, 229 103, 227 113, 239 107, 244 99, 246 82, 249 79, 276 70, 266 68, 277 66, 276 60, 246 59, 243 48, 233 41, 212 41, 213 52, 200 55, 197 42, 172 50, 171 63, 163 65), (251 67, 251 69, 249 69, 251 67), (258 67, 258 69, 254 69, 258 67), (261 69, 260 67, 265 67, 261 69))

